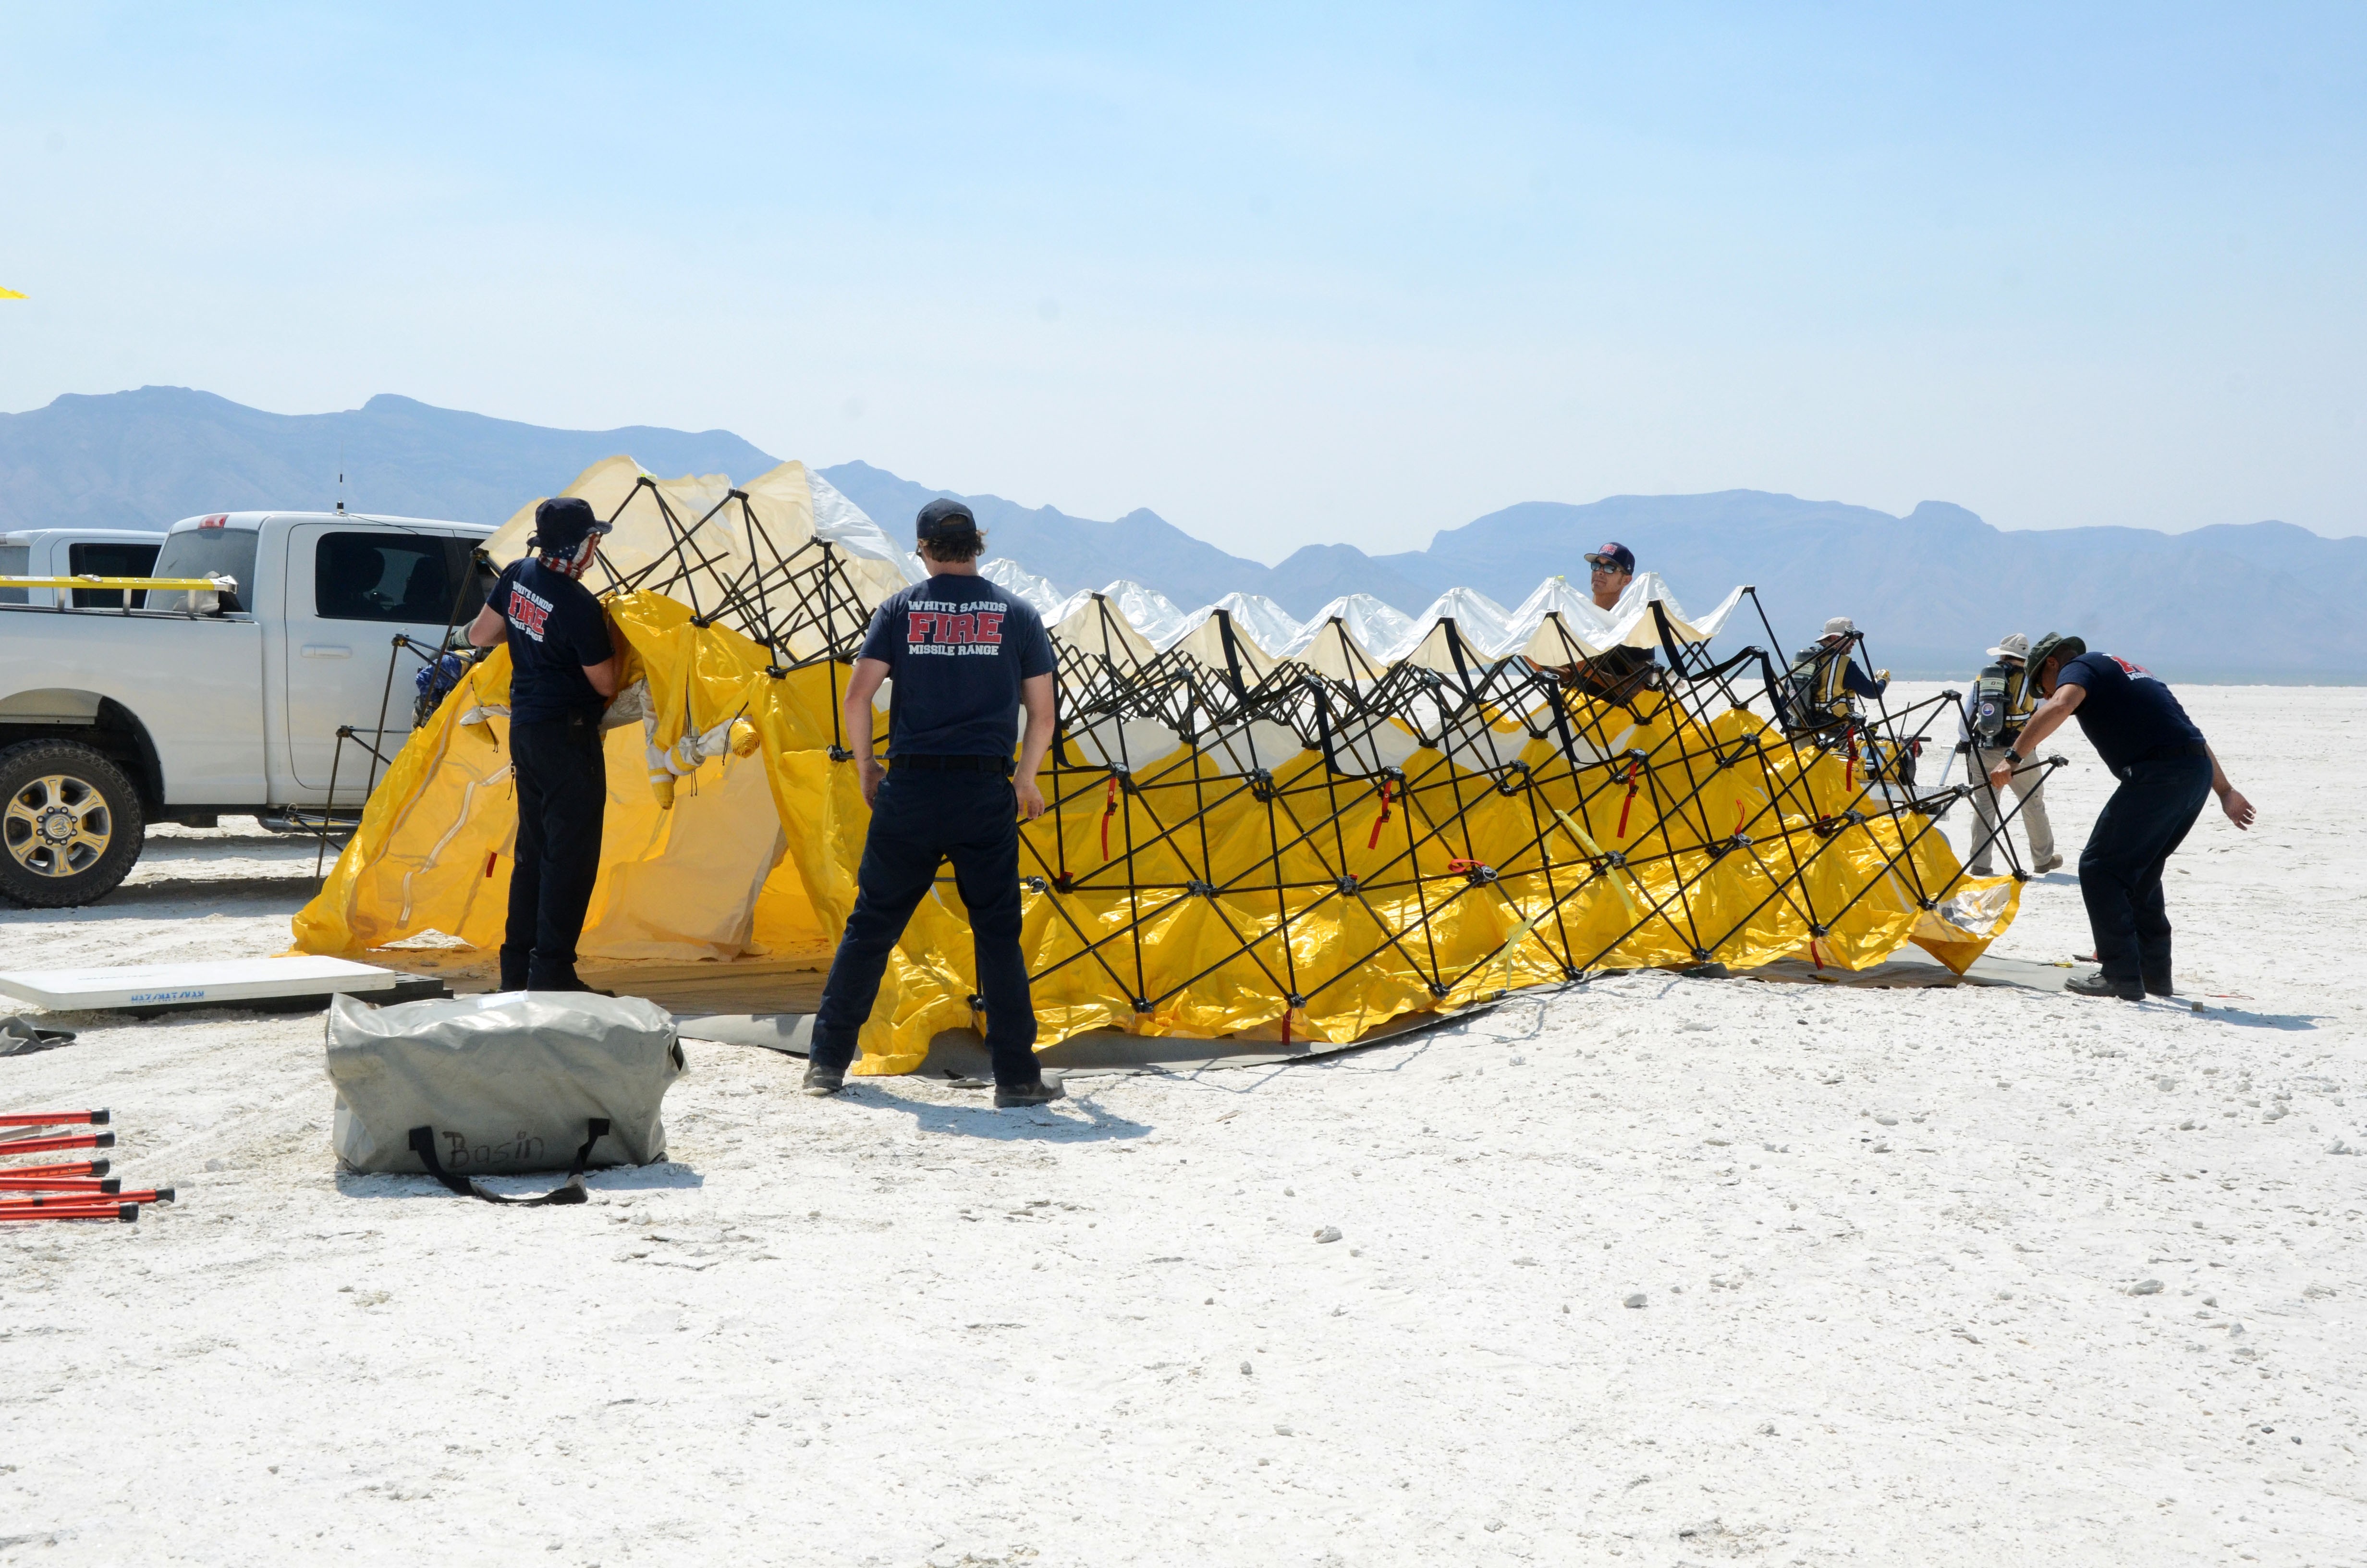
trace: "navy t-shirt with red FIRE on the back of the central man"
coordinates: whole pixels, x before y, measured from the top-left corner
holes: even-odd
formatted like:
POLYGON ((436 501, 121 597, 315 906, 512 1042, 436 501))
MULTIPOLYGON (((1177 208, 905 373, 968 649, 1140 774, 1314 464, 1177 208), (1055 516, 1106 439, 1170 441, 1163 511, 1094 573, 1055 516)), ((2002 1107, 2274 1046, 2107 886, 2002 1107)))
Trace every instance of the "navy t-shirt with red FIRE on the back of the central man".
POLYGON ((1053 666, 1034 609, 985 578, 944 573, 881 604, 862 656, 895 680, 890 758, 1011 756, 1020 682, 1053 666))

